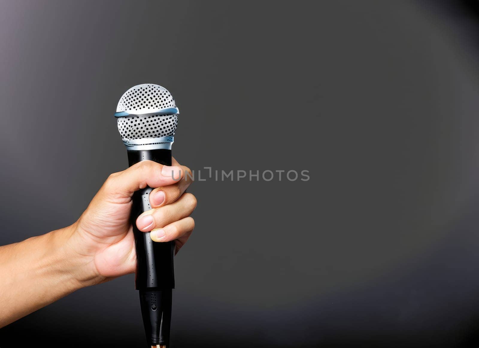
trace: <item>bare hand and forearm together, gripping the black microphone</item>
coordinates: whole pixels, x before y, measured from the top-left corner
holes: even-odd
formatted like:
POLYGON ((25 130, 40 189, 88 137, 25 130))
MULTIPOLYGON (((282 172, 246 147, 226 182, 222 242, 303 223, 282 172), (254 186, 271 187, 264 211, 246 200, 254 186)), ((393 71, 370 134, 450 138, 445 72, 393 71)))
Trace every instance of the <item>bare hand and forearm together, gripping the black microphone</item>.
POLYGON ((175 240, 178 252, 193 231, 196 198, 184 193, 191 184, 184 174, 191 171, 174 159, 172 164, 142 161, 111 174, 72 225, 0 247, 0 327, 75 290, 135 272, 129 216, 138 189, 155 188, 138 229, 152 231, 157 242, 175 240))

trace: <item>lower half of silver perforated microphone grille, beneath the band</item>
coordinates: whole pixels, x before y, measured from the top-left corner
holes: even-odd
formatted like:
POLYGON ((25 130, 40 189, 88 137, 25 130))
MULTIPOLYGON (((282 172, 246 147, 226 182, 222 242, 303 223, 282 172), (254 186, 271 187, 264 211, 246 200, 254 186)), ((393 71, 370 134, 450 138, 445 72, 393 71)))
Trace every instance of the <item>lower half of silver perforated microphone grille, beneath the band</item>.
POLYGON ((117 124, 123 139, 166 137, 174 134, 178 115, 125 116, 117 124))

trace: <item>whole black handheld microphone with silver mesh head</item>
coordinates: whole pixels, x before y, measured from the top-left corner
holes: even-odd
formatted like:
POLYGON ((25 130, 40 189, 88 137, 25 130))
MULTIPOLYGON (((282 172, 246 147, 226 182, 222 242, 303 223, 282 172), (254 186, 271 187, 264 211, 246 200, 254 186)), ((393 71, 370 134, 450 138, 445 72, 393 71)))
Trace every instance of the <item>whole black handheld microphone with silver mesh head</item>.
MULTIPOLYGON (((171 165, 171 144, 178 114, 171 93, 159 85, 137 85, 123 94, 114 116, 126 146, 130 167, 146 160, 171 165)), ((138 216, 151 209, 151 191, 151 187, 146 187, 134 193, 131 223, 137 250, 135 288, 139 290, 145 334, 150 346, 160 348, 170 344, 175 243, 154 242, 150 232, 137 228, 138 216)))

